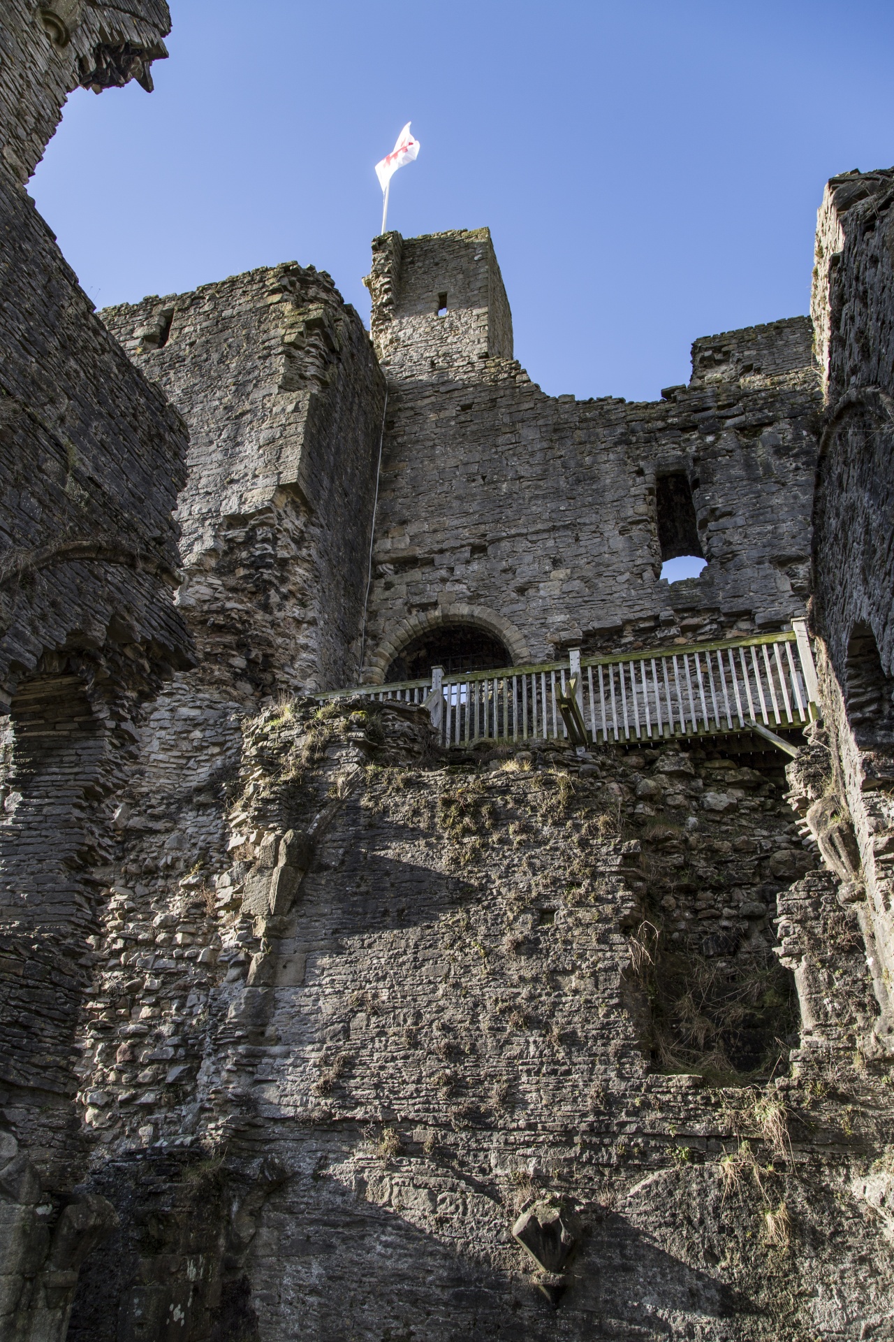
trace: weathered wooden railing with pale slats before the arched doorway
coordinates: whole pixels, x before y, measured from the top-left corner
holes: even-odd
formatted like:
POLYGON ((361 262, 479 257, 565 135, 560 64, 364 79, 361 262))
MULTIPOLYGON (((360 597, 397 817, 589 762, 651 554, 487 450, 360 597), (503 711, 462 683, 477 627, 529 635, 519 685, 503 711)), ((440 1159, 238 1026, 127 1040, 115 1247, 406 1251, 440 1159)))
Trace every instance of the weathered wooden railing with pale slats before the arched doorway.
POLYGON ((791 632, 724 639, 604 658, 572 651, 562 662, 331 690, 425 705, 442 745, 481 739, 584 742, 803 726, 815 715, 816 671, 804 621, 791 632), (576 709, 574 707, 576 705, 576 709))

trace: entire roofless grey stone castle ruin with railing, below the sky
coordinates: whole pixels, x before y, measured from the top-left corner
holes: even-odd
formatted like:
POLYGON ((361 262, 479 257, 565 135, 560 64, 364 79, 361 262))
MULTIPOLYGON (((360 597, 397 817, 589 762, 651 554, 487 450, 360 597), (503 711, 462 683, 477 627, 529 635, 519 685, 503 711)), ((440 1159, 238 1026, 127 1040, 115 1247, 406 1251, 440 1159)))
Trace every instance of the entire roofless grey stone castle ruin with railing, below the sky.
POLYGON ((894 1338, 894 169, 657 403, 484 228, 97 314, 168 31, 0 27, 0 1338, 894 1338))

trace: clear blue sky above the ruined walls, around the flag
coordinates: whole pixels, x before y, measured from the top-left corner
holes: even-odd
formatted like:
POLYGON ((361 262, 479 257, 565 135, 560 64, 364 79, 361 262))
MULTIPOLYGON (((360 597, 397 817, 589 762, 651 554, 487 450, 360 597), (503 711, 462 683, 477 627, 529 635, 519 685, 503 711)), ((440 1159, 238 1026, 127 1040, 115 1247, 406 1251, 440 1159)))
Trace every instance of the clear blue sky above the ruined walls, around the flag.
POLYGON ((155 93, 79 90, 31 184, 98 306, 296 259, 369 315, 405 235, 488 224, 544 391, 654 399, 806 313, 823 183, 894 162, 890 0, 172 0, 155 93))

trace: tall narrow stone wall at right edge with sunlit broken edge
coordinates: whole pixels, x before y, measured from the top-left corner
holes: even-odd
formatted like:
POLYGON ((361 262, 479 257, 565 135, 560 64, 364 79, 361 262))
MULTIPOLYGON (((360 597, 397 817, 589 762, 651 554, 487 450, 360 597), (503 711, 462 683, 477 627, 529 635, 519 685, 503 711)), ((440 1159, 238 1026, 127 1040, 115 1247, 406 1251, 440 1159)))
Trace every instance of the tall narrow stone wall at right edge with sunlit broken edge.
MULTIPOLYGON (((834 177, 816 231, 814 314, 827 395, 814 502, 812 628, 830 796, 852 833, 850 896, 894 1051, 894 172, 834 177)), ((820 817, 822 819, 822 817, 820 817)))

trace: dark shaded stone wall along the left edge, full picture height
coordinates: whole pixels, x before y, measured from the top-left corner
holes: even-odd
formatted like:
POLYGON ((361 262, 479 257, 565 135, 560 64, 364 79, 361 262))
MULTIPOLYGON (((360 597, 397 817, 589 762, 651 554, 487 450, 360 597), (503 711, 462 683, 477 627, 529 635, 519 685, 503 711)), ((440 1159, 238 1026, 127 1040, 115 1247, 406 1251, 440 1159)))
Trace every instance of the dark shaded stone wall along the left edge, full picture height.
POLYGON ((0 31, 0 1333, 64 1337, 111 1206, 74 1196, 75 1028, 139 702, 190 662, 173 605, 180 416, 24 195, 78 83, 164 55, 164 4, 12 0, 0 31), (63 12, 64 11, 64 12, 63 12))

